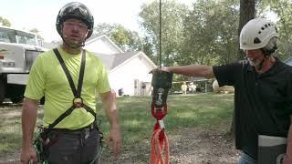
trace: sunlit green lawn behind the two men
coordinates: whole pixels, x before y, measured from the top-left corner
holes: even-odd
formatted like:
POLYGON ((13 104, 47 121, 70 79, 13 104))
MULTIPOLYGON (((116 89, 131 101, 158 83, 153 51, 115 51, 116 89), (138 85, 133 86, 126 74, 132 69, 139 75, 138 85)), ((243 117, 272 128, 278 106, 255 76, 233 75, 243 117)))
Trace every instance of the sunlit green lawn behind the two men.
MULTIPOLYGON (((176 134, 181 128, 206 128, 224 131, 229 128, 233 115, 233 95, 197 94, 170 95, 168 114, 164 118, 169 134, 176 134)), ((100 102, 98 103, 100 107, 100 102)), ((151 116, 151 97, 119 97, 118 108, 123 149, 130 149, 134 143, 151 139, 155 119, 151 116)), ((20 111, 21 107, 0 108, 0 159, 10 157, 21 149, 20 116, 5 117, 1 114, 20 111)), ((108 136, 110 124, 103 110, 99 110, 100 129, 108 136)), ((41 122, 41 118, 37 119, 41 122)))

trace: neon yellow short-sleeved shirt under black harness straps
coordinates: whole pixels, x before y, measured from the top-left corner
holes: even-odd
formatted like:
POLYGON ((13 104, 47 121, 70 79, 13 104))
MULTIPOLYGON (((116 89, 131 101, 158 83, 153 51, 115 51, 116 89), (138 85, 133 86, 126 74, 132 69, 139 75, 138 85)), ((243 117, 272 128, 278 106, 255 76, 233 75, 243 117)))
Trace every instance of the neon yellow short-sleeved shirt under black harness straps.
MULTIPOLYGON (((81 64, 81 53, 70 55, 60 46, 57 48, 66 67, 78 87, 78 77, 81 64)), ((96 111, 97 93, 110 91, 107 70, 98 56, 86 51, 86 64, 83 77, 81 97, 84 104, 96 111)), ((46 97, 44 105, 44 127, 52 124, 62 113, 72 106, 74 95, 69 86, 68 78, 57 60, 53 50, 44 52, 36 57, 26 85, 25 97, 40 99, 46 97)), ((57 124, 55 128, 78 129, 88 126, 94 116, 84 108, 76 108, 67 117, 57 124)))

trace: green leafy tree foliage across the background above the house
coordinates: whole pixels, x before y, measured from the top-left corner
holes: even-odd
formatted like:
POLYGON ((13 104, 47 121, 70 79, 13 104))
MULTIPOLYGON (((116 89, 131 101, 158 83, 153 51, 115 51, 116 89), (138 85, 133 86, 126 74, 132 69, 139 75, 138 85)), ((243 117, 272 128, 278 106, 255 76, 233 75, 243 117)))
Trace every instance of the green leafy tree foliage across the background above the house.
MULTIPOLYGON (((143 51, 157 65, 160 37, 164 66, 221 65, 244 58, 238 51, 238 36, 248 20, 275 15, 280 35, 277 56, 286 59, 292 52, 291 0, 196 0, 192 6, 179 2, 162 0, 162 15, 158 1, 142 5, 142 34, 117 24, 99 24, 93 36, 109 36, 124 51, 143 51)), ((11 26, 2 16, 0 21, 11 26)), ((36 28, 32 31, 38 34, 36 28)))

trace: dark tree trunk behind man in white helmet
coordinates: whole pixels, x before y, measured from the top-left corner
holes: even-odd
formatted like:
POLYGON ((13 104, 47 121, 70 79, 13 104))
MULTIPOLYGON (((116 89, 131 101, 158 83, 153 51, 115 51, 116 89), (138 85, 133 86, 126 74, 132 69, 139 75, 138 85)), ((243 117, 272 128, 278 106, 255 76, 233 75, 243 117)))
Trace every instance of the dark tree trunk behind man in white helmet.
MULTIPOLYGON (((241 29, 245 26, 245 24, 255 18, 255 3, 256 0, 240 0, 240 13, 239 13, 239 26, 238 26, 238 40, 240 36, 241 29)), ((242 60, 245 58, 245 53, 239 48, 237 51, 237 59, 242 60)), ((232 119, 232 124, 230 126, 230 133, 235 134, 235 115, 232 119)))

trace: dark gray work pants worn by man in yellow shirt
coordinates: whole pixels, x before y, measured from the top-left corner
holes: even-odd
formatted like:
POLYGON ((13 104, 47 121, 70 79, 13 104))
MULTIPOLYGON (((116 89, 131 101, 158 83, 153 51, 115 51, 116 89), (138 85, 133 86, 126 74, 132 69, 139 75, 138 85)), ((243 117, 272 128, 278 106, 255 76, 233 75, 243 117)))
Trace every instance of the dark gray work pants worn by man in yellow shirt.
MULTIPOLYGON (((80 131, 52 130, 48 134, 48 161, 51 164, 89 164, 99 149, 99 130, 84 128, 80 131)), ((99 159, 95 164, 100 164, 99 159)))

